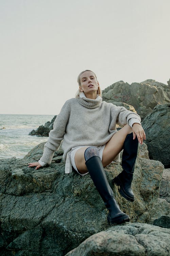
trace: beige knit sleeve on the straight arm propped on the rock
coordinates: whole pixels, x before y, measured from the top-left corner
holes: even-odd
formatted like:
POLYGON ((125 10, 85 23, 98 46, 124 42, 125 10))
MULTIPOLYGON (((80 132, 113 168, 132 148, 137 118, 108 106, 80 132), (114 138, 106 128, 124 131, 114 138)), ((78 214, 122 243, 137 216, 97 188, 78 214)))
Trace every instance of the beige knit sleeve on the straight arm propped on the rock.
POLYGON ((40 161, 45 163, 51 163, 54 156, 54 152, 59 148, 61 141, 63 139, 67 122, 69 120, 70 107, 69 100, 66 101, 62 107, 60 114, 57 115, 53 130, 49 132, 49 138, 47 143, 44 145, 43 156, 40 158, 40 161))

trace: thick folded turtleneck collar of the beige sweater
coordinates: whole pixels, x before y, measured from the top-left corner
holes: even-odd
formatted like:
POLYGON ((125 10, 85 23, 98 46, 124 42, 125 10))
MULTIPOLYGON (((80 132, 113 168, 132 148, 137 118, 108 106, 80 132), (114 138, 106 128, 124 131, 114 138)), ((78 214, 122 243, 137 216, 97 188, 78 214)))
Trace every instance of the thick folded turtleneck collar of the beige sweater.
POLYGON ((97 108, 102 103, 102 97, 100 97, 98 94, 96 99, 89 99, 89 98, 86 98, 84 93, 80 93, 79 98, 77 99, 78 99, 78 102, 86 108, 97 108))

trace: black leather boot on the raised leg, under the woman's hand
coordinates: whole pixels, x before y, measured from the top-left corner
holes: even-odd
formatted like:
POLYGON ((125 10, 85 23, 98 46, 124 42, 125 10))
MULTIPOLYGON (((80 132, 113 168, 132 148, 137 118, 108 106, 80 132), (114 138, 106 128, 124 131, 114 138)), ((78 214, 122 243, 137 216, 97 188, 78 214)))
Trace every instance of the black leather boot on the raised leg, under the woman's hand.
POLYGON ((126 136, 123 145, 122 167, 123 171, 113 179, 113 182, 120 186, 119 193, 125 199, 133 202, 135 197, 131 188, 133 173, 135 169, 135 161, 138 151, 137 136, 133 139, 133 133, 126 136))

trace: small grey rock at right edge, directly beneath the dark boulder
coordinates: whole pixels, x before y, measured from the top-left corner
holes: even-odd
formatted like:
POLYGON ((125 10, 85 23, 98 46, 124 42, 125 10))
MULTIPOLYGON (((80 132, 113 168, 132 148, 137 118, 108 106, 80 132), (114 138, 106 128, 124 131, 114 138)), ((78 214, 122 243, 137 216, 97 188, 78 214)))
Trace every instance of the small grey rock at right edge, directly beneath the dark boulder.
POLYGON ((170 169, 164 169, 163 171, 159 197, 170 203, 170 169))

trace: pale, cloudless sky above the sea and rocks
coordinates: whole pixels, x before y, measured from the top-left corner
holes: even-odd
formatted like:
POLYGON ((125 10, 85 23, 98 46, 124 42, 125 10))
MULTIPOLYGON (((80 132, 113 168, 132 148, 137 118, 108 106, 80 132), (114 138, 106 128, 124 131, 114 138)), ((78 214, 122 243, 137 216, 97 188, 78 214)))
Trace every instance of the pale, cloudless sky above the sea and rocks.
POLYGON ((169 0, 0 0, 0 113, 58 114, 91 69, 101 89, 170 78, 169 0))

